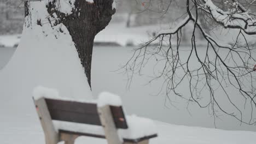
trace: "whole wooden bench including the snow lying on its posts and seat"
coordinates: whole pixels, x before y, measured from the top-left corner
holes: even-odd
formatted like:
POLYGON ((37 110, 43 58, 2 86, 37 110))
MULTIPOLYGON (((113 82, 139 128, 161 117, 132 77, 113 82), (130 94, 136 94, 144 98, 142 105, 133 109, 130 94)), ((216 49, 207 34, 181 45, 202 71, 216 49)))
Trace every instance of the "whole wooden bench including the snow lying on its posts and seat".
POLYGON ((125 116, 118 95, 103 92, 97 101, 72 100, 59 97, 55 89, 37 87, 33 99, 48 144, 73 144, 78 136, 142 144, 157 136, 152 120, 125 116))

